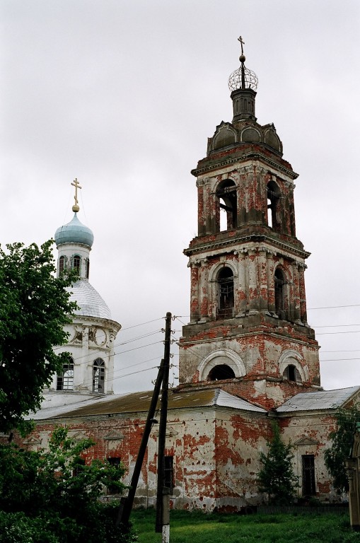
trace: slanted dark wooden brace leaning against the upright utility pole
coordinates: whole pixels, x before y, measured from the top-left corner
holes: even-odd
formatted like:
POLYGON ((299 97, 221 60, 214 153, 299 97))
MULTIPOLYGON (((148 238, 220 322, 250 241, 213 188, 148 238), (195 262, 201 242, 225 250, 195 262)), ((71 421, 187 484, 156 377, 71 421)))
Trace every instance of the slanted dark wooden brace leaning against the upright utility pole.
POLYGON ((139 477, 141 473, 141 466, 144 461, 144 456, 146 452, 146 447, 148 445, 151 426, 154 424, 156 404, 158 403, 158 395, 160 392, 161 383, 163 383, 163 373, 164 373, 165 361, 161 361, 160 367, 158 368, 158 377, 156 378, 156 383, 153 388, 153 396, 151 398, 151 404, 149 407, 149 413, 146 419, 144 433, 141 438, 139 453, 137 455, 137 462, 135 462, 134 472, 132 474, 132 481, 129 486, 129 493, 127 498, 124 498, 123 501, 120 501, 119 512, 117 514, 116 525, 120 525, 120 522, 124 526, 129 525, 129 518, 132 512, 132 505, 134 503, 135 493, 137 491, 137 484, 139 482, 139 477))

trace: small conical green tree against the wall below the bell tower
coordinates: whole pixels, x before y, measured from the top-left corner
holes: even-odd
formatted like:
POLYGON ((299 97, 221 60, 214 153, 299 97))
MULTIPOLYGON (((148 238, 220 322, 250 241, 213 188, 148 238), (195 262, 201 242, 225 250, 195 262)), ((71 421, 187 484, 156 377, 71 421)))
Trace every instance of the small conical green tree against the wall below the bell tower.
POLYGON ((272 439, 267 443, 269 450, 260 452, 262 469, 258 474, 260 492, 269 495, 269 502, 276 505, 294 501, 298 478, 293 470, 292 445, 286 445, 280 436, 279 424, 272 423, 272 439))

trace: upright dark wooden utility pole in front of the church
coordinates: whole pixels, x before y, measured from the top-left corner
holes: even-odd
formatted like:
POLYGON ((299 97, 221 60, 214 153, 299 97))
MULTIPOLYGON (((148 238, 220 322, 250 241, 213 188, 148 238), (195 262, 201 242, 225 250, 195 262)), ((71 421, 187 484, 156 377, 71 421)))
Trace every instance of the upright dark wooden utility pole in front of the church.
POLYGON ((163 532, 163 542, 168 541, 169 527, 169 490, 164 488, 165 482, 165 445, 166 445, 166 419, 168 417, 168 389, 170 369, 170 336, 171 313, 166 313, 164 372, 163 387, 161 389, 160 424, 158 428, 158 484, 156 492, 156 532, 163 532))

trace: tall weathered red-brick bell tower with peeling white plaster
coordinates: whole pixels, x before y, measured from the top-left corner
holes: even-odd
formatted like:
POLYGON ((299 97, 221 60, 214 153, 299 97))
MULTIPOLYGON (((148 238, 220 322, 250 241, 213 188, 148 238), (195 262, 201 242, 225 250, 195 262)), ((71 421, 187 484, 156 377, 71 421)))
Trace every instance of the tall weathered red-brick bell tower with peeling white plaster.
POLYGON ((209 138, 197 177, 198 235, 180 387, 221 387, 265 409, 320 387, 318 342, 306 318, 306 252, 296 238, 294 180, 274 124, 255 117, 257 76, 228 86, 233 121, 209 138), (214 383, 215 382, 215 383, 214 383))

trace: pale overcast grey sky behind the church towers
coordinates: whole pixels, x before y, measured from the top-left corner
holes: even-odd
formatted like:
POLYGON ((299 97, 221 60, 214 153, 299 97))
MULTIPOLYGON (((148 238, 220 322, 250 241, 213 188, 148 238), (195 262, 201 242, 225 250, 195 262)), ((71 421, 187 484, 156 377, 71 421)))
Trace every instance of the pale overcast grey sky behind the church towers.
POLYGON ((274 123, 299 174, 322 384, 360 385, 359 0, 0 0, 0 10, 1 245, 53 237, 78 178, 79 219, 95 235, 90 281, 122 325, 115 391, 152 386, 167 311, 180 317, 174 339, 188 322, 190 170, 231 121, 239 35, 259 78, 257 120, 274 123))

